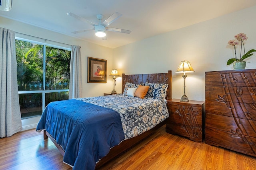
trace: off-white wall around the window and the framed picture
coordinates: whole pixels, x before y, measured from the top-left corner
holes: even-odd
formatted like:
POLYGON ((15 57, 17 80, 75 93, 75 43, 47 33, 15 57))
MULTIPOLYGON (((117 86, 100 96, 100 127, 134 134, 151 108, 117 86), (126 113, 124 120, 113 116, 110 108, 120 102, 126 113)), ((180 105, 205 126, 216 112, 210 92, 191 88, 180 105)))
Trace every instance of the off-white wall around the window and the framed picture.
MULTIPOLYGON (((13 31, 16 31, 16 37, 24 38, 24 39, 30 39, 33 41, 39 41, 42 43, 48 43, 52 45, 58 45, 58 46, 64 46, 67 48, 71 48, 71 46, 68 45, 62 45, 58 43, 54 43, 51 41, 44 41, 42 39, 33 38, 26 35, 32 35, 34 37, 40 37, 43 39, 48 39, 52 41, 57 41, 60 43, 66 43, 70 45, 79 45, 81 46, 81 57, 82 57, 82 95, 80 97, 92 97, 92 96, 103 96, 103 93, 105 92, 111 92, 113 89, 113 79, 110 76, 107 76, 107 83, 87 83, 87 57, 94 57, 94 58, 100 58, 100 59, 106 59, 107 60, 107 74, 110 74, 112 70, 112 63, 113 63, 113 49, 103 47, 100 45, 96 45, 93 43, 89 43, 86 41, 82 41, 80 39, 76 39, 74 37, 69 37, 66 35, 62 35, 60 33, 56 33, 53 31, 49 31, 46 29, 42 29, 39 27, 35 27, 32 25, 28 25, 25 23, 21 23, 18 21, 6 19, 0 17, 0 27, 6 27, 8 29, 11 29, 13 31), (26 35, 22 35, 22 34, 26 35)), ((22 120, 22 127, 23 130, 35 128, 40 117, 34 117, 31 119, 24 119, 22 120)))

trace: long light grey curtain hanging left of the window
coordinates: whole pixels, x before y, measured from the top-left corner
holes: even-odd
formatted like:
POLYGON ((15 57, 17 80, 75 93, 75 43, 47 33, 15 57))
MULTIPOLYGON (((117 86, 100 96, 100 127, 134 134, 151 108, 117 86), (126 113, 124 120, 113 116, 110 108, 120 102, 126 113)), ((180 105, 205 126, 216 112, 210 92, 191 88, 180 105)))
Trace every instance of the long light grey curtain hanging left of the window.
POLYGON ((0 137, 22 129, 17 83, 15 32, 0 27, 0 137))

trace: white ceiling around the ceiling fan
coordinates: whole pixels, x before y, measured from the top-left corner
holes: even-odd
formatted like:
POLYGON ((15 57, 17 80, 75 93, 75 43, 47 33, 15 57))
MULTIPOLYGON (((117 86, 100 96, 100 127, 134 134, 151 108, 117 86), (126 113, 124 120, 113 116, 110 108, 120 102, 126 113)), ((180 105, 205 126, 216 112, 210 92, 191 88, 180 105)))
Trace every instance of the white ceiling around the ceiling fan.
POLYGON ((254 5, 256 0, 13 0, 12 10, 0 11, 0 16, 116 48, 254 5), (93 26, 66 15, 68 12, 94 23, 98 23, 97 14, 106 19, 119 12, 122 16, 110 27, 132 32, 107 31, 107 40, 96 37, 94 30, 73 34, 93 26))

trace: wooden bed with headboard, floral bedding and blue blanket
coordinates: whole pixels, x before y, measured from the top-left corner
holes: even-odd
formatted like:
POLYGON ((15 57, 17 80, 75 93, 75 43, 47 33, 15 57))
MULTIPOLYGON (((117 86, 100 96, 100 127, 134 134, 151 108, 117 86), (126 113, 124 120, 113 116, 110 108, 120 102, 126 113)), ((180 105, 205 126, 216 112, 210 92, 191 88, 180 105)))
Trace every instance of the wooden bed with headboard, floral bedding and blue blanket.
MULTIPOLYGON (((60 153, 64 156, 63 162, 72 166, 74 170, 99 168, 166 123, 166 118, 169 116, 166 100, 171 99, 171 88, 172 71, 156 74, 122 74, 122 94, 52 102, 44 110, 36 131, 44 131, 44 139, 49 137, 52 140, 54 145, 60 150, 60 153), (159 97, 157 96, 158 92, 156 92, 156 89, 158 89, 156 84, 158 86, 159 84, 167 85, 167 88, 161 86, 161 88, 164 89, 165 98, 161 98, 160 100, 156 99, 159 97), (128 94, 128 91, 131 89, 139 89, 142 86, 149 86, 148 92, 150 92, 150 90, 155 92, 156 96, 153 97, 150 96, 152 93, 147 93, 146 97, 143 99, 143 102, 148 100, 153 103, 155 107, 146 103, 139 104, 139 102, 142 101, 140 98, 125 95, 128 94), (160 104, 158 104, 158 102, 160 104), (134 103, 136 106, 133 107, 138 107, 141 111, 127 106, 128 103, 134 103), (122 105, 125 104, 126 106, 122 108, 122 105), (161 104, 164 107, 162 107, 161 104), (143 110, 142 106, 144 107, 143 110), (157 108, 162 111, 163 115, 152 115, 152 117, 148 117, 147 112, 151 113, 150 107, 154 110, 157 108), (80 117, 83 115, 85 109, 89 111, 96 110, 96 113, 89 114, 90 116, 94 115, 92 119, 80 117), (130 111, 130 113, 128 114, 127 111, 130 111), (76 120, 70 118, 70 115, 75 115, 76 120), (104 118, 101 118, 101 115, 104 115, 104 118), (132 116, 128 117, 130 115, 132 116), (141 118, 140 115, 142 116, 141 118), (81 119, 85 119, 86 123, 80 123, 81 119), (151 119, 151 121, 145 122, 145 120, 148 119, 151 119), (99 125, 93 124, 94 122, 97 122, 99 125), (127 123, 131 122, 134 124, 134 127, 128 128, 130 124, 128 126, 127 123), (86 124, 86 127, 82 124, 86 124), (76 127, 76 129, 74 127, 76 127), (91 129, 88 130, 90 127, 91 129), (65 135, 64 137, 63 134, 65 135), (84 140, 84 136, 87 137, 87 140, 84 140), (89 143, 88 141, 92 142, 89 143), (72 149, 70 149, 71 147, 72 149)), ((136 92, 137 91, 138 90, 136 90, 136 92)), ((157 111, 152 111, 152 113, 153 112, 160 114, 157 111)))

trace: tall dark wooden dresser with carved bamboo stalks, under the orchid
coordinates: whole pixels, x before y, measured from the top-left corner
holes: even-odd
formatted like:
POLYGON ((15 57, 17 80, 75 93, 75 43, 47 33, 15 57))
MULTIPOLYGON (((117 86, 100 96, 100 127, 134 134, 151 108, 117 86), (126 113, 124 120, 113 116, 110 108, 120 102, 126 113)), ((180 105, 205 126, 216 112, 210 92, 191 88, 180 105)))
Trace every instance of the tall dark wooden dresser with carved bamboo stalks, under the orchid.
POLYGON ((256 69, 205 72, 205 143, 256 156, 256 69))

